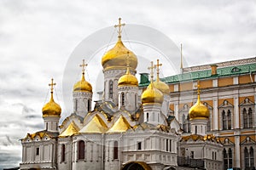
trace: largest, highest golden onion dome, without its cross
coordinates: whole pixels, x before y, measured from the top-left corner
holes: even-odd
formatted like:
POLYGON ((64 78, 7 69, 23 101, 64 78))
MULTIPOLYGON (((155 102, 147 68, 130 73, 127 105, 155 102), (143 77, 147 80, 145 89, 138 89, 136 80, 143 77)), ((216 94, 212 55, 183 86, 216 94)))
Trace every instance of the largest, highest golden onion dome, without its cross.
POLYGON ((102 66, 104 70, 125 69, 126 55, 128 52, 131 70, 135 71, 137 68, 137 56, 125 47, 120 38, 118 42, 116 42, 115 46, 103 55, 102 66))

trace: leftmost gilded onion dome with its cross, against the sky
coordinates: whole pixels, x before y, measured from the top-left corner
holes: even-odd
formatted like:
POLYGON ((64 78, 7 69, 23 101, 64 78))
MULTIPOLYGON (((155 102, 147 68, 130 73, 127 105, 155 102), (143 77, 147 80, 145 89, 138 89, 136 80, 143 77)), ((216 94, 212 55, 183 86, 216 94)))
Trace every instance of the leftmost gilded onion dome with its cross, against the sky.
POLYGON ((51 87, 50 91, 50 99, 47 104, 44 105, 42 111, 43 111, 43 117, 47 116, 61 116, 61 106, 55 103, 55 100, 53 98, 53 86, 55 83, 53 82, 53 79, 51 79, 51 83, 49 86, 51 87))

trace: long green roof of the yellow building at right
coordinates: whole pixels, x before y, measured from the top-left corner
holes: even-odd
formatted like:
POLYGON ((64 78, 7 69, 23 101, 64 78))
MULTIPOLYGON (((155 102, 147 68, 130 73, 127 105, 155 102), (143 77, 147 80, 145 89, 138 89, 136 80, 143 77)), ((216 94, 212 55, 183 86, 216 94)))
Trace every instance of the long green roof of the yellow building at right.
MULTIPOLYGON (((216 78, 216 77, 230 77, 235 75, 247 74, 250 72, 256 72, 256 64, 247 64, 247 65, 234 65, 229 67, 222 67, 217 69, 217 75, 212 76, 212 70, 204 71, 191 71, 185 72, 183 74, 174 75, 171 77, 161 78, 162 82, 166 83, 175 83, 175 82, 186 82, 207 78, 216 78)), ((148 86, 148 82, 140 82, 139 87, 148 86)))

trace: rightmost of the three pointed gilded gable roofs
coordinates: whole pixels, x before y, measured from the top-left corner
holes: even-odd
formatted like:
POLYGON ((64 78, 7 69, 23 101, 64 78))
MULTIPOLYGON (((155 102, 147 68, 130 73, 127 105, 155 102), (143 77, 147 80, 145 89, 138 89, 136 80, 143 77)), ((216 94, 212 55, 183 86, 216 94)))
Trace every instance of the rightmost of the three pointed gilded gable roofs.
POLYGON ((125 133, 128 129, 132 129, 131 125, 124 116, 119 116, 119 119, 114 122, 113 126, 108 129, 107 133, 125 133))

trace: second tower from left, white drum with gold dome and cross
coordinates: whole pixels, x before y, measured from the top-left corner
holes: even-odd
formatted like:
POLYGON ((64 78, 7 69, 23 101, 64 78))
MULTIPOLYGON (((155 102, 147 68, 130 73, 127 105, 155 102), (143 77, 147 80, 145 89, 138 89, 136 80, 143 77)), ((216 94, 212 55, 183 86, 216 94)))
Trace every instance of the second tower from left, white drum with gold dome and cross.
POLYGON ((73 112, 79 116, 84 117, 91 111, 92 88, 90 82, 84 78, 84 71, 87 64, 84 59, 82 65, 82 78, 73 86, 73 112))

